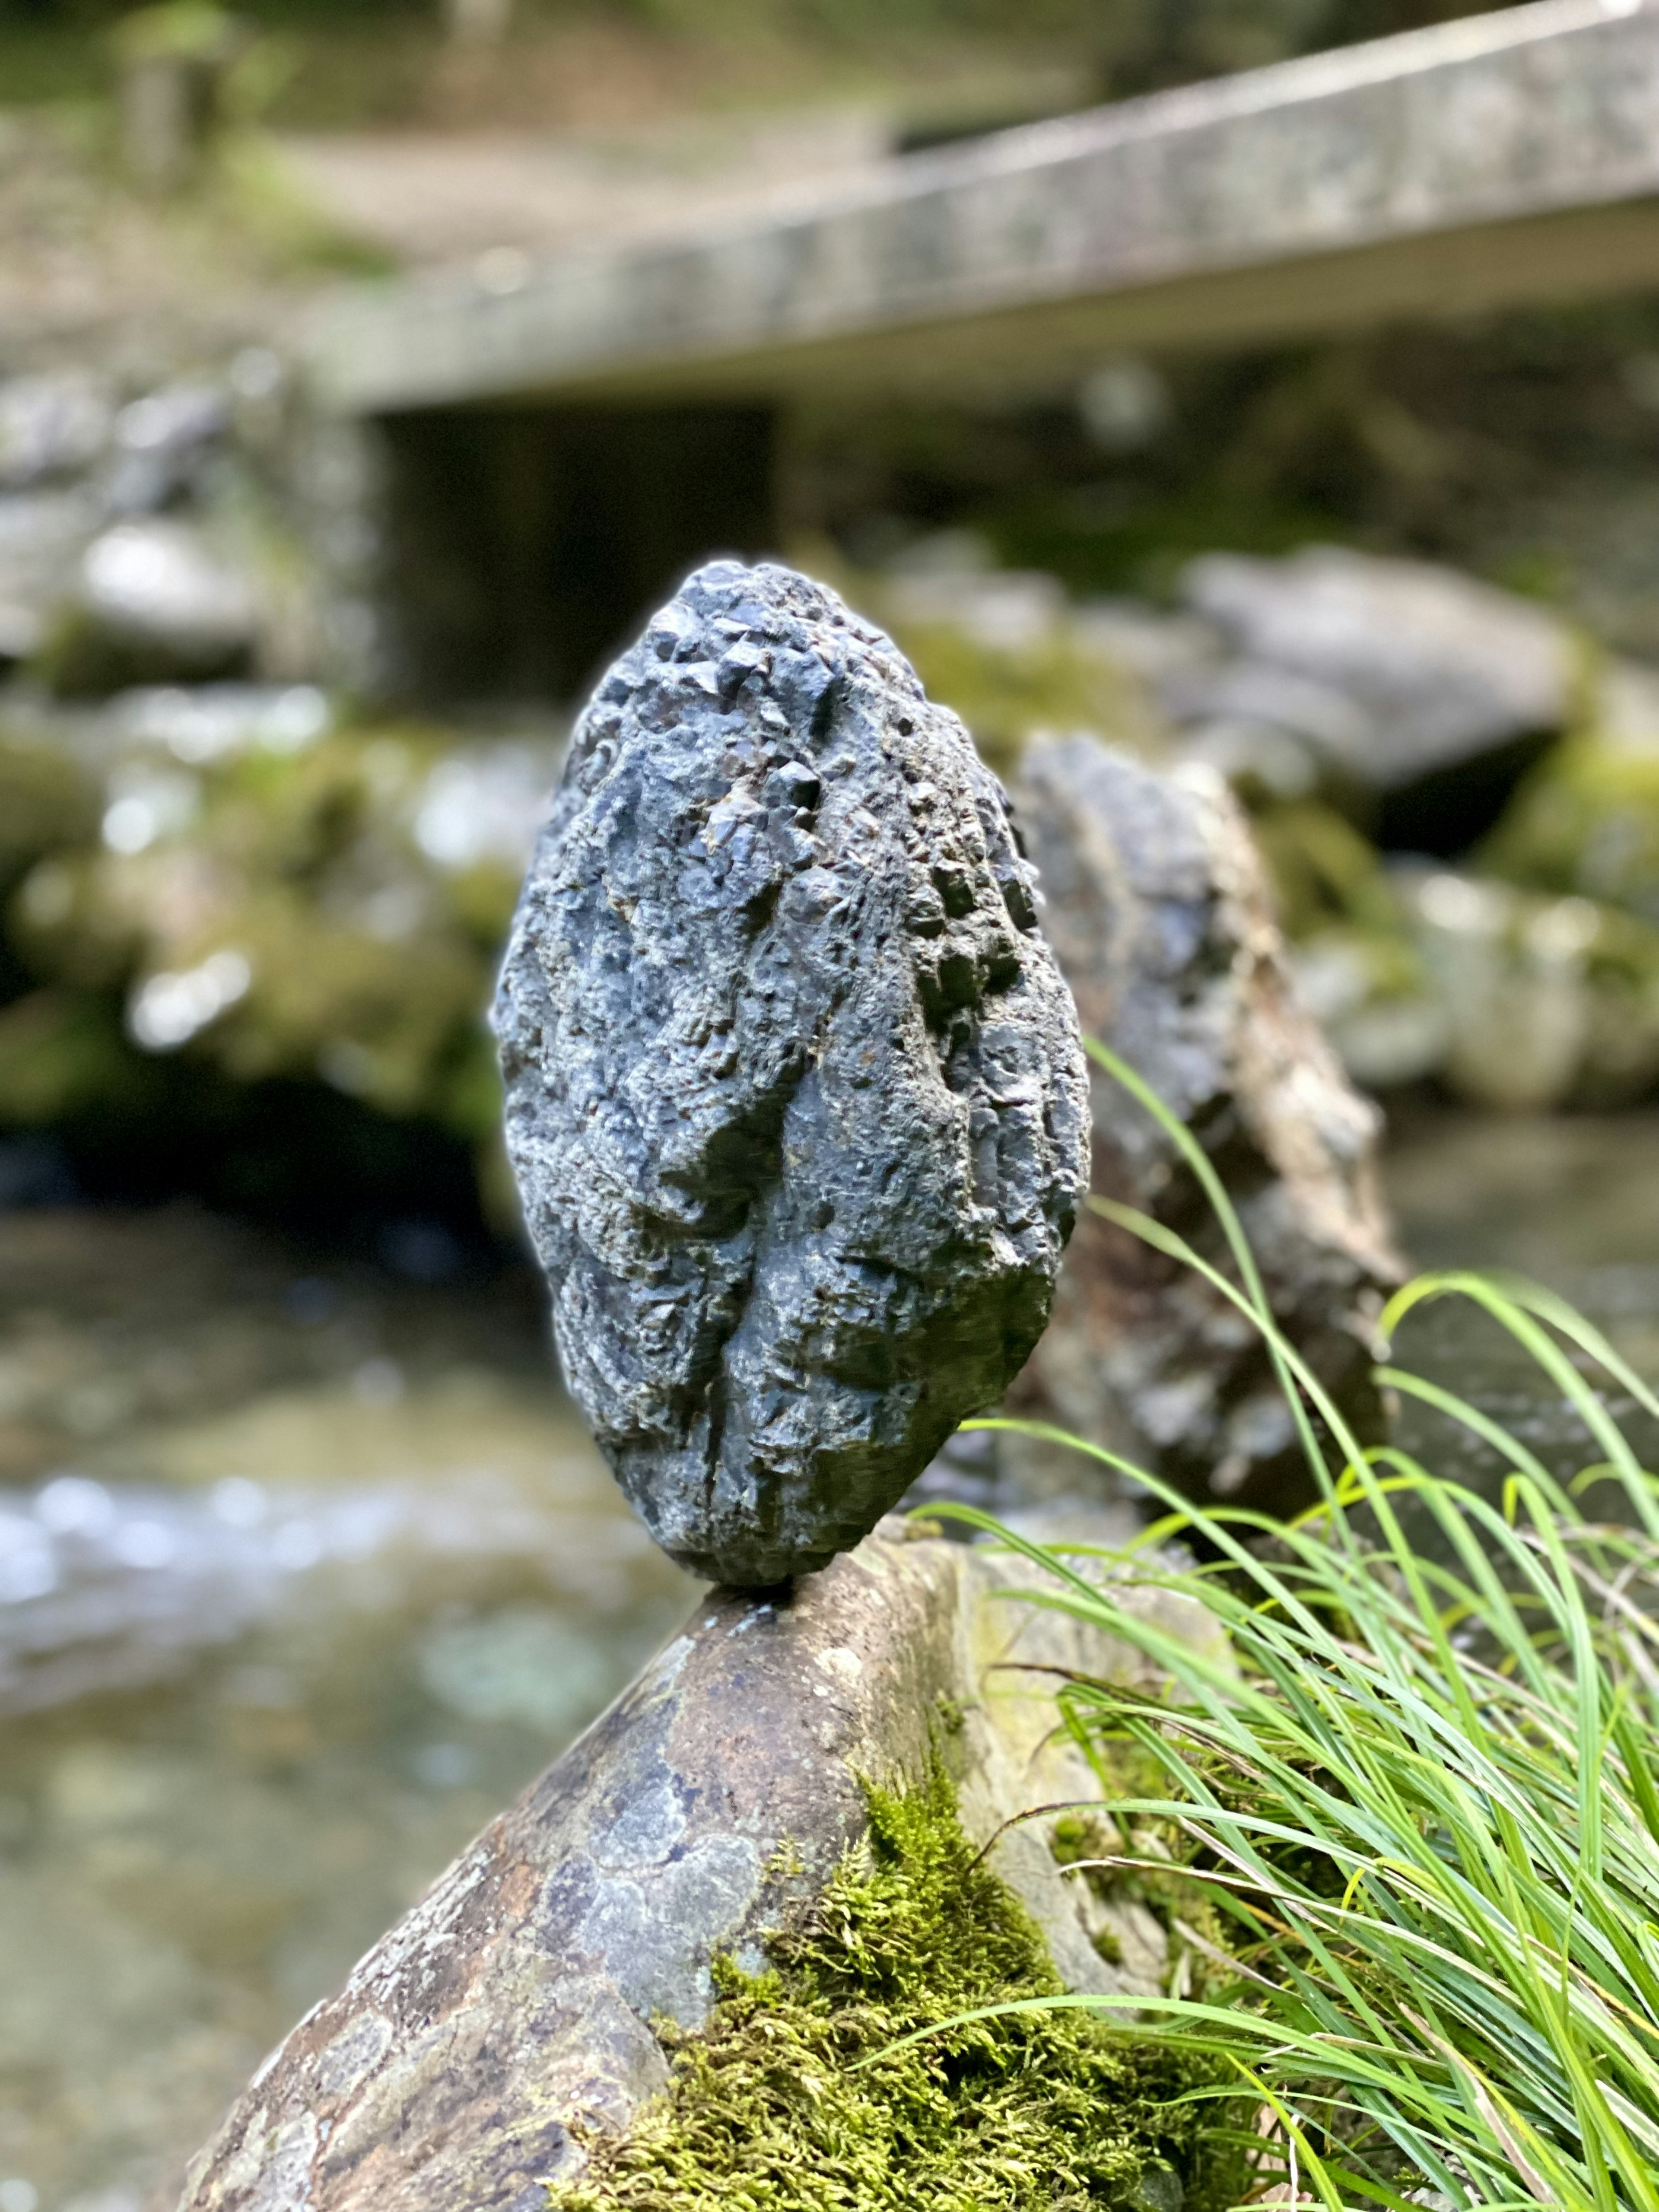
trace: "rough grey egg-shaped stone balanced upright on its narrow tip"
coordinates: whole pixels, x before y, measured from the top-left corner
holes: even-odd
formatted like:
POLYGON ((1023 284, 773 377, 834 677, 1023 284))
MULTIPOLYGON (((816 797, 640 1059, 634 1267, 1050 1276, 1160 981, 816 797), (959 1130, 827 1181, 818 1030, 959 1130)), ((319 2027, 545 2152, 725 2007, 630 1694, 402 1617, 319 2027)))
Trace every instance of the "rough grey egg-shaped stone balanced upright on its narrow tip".
POLYGON ((1020 1369, 1086 1181, 1002 787, 834 593, 701 568, 577 723, 495 1029, 624 1491, 714 1582, 823 1566, 1020 1369))

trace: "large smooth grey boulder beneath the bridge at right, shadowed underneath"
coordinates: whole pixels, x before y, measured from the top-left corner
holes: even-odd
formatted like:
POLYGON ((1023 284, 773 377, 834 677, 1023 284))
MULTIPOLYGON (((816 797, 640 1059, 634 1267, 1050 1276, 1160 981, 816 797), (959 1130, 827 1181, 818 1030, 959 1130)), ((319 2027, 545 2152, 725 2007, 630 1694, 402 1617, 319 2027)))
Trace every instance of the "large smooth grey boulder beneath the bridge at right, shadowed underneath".
POLYGON ((1451 568, 1343 546, 1208 553, 1183 597, 1237 659, 1183 675, 1168 699, 1177 719, 1287 734, 1369 801, 1398 849, 1469 845, 1571 712, 1566 626, 1451 568))

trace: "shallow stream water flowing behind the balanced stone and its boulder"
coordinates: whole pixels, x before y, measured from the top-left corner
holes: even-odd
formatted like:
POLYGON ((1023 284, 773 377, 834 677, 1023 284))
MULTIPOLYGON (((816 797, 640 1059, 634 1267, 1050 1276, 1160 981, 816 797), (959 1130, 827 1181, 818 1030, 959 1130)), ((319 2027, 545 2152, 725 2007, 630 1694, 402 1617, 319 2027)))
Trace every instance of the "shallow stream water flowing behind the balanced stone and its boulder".
MULTIPOLYGON (((1659 1117, 1420 1119, 1391 1188, 1420 1263, 1526 1267, 1659 1371, 1659 1117)), ((1577 1449, 1489 1323, 1436 1307, 1398 1354, 1577 1449)), ((0 1214, 0 2212, 166 2205, 690 1593, 551 1380, 529 1276, 0 1214)))

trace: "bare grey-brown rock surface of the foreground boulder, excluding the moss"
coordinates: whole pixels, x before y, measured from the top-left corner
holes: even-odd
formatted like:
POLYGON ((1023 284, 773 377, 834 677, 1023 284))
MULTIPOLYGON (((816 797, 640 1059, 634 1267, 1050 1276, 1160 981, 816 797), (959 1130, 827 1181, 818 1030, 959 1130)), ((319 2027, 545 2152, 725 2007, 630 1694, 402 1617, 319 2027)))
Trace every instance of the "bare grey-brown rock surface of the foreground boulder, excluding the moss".
MULTIPOLYGON (((1093 1801, 1053 1730, 1053 1670, 1155 1679, 1079 1621, 998 1597, 1031 1575, 894 1524, 774 1601, 708 1599, 265 2059, 181 2212, 538 2212, 544 2179, 582 2161, 571 2121, 622 2128, 666 2084, 653 2017, 703 2020, 714 1953, 759 1966, 761 1936, 863 1834, 860 1776, 920 1781, 940 1710, 962 1714, 949 1756, 971 1836, 1093 1801)), ((1190 1599, 1133 1601, 1212 1635, 1190 1599)), ((993 1865, 1075 1989, 1164 1986, 1159 1922, 1064 1882, 1042 1823, 1004 1829, 993 1865)))

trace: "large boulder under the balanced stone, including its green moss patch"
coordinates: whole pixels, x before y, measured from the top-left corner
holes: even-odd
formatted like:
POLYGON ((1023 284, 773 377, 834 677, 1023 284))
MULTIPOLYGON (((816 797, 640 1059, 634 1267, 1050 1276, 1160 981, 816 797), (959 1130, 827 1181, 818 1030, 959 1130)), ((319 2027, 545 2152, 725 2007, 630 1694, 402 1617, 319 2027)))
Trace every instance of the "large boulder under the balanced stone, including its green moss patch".
MULTIPOLYGON (((1234 2201, 1206 2197, 1188 2068, 1133 2037, 1060 2013, 891 2048, 975 2002, 1206 1971, 1190 1907, 1057 1869, 1046 1827, 1102 1783, 1055 1672, 1157 1674, 1020 1582, 1044 1577, 885 1522, 821 1575, 708 1595, 265 2062, 186 2212, 1234 2201)), ((1225 1666, 1197 1608, 1130 1601, 1225 1666)))

